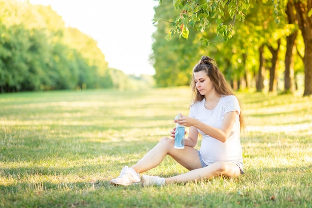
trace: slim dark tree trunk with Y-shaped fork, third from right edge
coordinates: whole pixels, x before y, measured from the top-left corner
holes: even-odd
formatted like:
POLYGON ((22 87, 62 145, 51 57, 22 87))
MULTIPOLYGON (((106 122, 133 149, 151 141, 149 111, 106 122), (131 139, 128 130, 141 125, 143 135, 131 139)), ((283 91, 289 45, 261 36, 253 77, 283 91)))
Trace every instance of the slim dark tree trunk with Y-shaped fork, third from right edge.
POLYGON ((270 68, 270 84, 269 84, 269 92, 276 92, 277 91, 277 68, 278 68, 278 59, 279 59, 279 52, 281 46, 281 39, 277 41, 277 48, 274 49, 271 45, 268 45, 269 50, 272 53, 272 66, 270 68))

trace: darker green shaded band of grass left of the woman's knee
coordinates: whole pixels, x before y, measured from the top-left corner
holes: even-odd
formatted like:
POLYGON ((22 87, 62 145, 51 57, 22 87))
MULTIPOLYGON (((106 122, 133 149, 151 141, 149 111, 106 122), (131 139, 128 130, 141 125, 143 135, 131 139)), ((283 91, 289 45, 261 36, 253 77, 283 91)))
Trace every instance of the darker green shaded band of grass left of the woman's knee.
MULTIPOLYGON (((159 135, 160 136, 160 135, 159 135)), ((159 137, 160 138, 160 137, 159 137)), ((1 162, 42 162, 55 160, 75 160, 97 158, 100 156, 122 156, 124 154, 141 154, 152 149, 158 141, 88 141, 85 138, 73 138, 72 142, 46 140, 30 141, 31 144, 11 145, 1 148, 1 162)), ((159 139, 160 140, 160 139, 159 139)))

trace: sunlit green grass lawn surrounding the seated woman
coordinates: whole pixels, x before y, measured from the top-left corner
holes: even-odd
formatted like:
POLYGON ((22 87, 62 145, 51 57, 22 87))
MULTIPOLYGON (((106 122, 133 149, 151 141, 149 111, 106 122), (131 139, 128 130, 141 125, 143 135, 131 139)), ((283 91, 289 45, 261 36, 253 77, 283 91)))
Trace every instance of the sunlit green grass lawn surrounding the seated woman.
MULTIPOLYGON (((141 188, 109 181, 188 114, 189 88, 0 94, 0 208, 312 207, 312 97, 237 96, 244 175, 141 188)), ((166 157, 147 174, 185 171, 166 157)))

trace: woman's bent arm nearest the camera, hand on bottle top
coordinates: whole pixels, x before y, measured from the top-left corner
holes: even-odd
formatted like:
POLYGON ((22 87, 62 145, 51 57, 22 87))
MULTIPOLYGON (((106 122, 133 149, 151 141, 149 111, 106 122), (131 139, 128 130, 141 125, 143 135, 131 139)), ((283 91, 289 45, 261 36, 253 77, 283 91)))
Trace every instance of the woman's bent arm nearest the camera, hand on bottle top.
POLYGON ((175 120, 176 121, 175 123, 179 123, 183 126, 190 126, 190 129, 191 127, 195 127, 195 129, 198 128, 199 130, 208 134, 209 136, 221 142, 225 142, 231 133, 231 130, 235 123, 236 115, 237 111, 231 111, 224 114, 222 126, 220 129, 208 126, 207 124, 204 124, 203 122, 200 122, 197 119, 186 117, 183 115, 181 115, 182 118, 175 120))

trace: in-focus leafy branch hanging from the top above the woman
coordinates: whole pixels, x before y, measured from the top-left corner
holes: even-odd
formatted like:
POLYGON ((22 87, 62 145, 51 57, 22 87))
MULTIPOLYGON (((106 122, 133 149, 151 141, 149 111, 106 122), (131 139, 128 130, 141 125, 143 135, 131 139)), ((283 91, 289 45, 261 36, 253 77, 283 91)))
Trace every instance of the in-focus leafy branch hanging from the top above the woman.
MULTIPOLYGON (((163 0, 159 0, 159 4, 162 2, 163 0)), ((173 0, 173 5, 180 14, 172 21, 167 39, 175 35, 187 39, 189 26, 203 33, 215 19, 218 25, 216 33, 224 41, 232 37, 236 19, 244 22, 250 6, 249 0, 173 0), (230 23, 224 21, 227 15, 232 19, 230 23)), ((205 45, 211 42, 204 37, 200 41, 205 45)))

